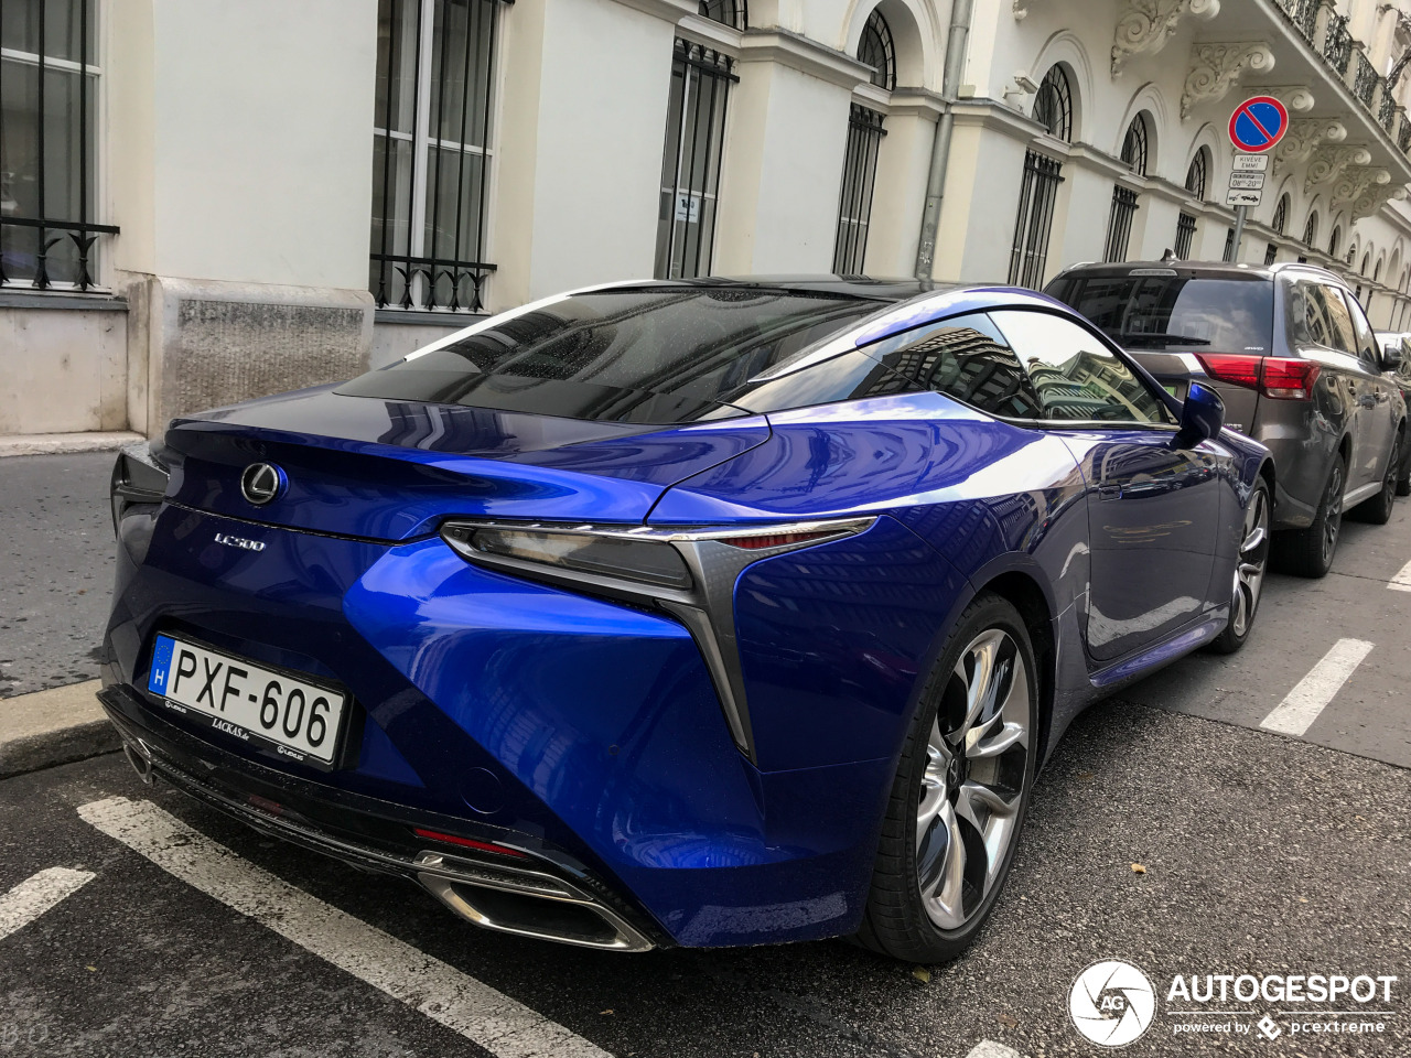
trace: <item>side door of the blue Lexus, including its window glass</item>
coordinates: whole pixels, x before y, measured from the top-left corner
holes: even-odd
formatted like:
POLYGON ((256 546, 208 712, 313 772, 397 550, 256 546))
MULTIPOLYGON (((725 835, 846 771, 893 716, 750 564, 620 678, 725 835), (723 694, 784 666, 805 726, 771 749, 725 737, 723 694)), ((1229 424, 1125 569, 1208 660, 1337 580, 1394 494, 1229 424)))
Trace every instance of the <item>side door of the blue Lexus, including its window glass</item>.
MULTIPOLYGON (((1096 334, 1051 313, 991 313, 1082 467, 1099 663, 1171 636, 1208 605, 1222 526, 1218 444, 1175 447, 1174 418, 1096 334)), ((1225 601, 1225 600, 1219 600, 1225 601)))

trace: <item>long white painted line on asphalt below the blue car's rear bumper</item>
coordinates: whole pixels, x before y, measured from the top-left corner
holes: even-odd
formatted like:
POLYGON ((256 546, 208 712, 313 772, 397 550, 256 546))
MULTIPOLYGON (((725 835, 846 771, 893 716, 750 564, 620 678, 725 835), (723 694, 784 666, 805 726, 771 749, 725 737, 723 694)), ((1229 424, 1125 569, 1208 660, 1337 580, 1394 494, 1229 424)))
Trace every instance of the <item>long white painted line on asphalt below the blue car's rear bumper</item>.
POLYGON ((611 1058, 509 996, 257 868, 151 801, 79 808, 110 838, 499 1058, 611 1058))

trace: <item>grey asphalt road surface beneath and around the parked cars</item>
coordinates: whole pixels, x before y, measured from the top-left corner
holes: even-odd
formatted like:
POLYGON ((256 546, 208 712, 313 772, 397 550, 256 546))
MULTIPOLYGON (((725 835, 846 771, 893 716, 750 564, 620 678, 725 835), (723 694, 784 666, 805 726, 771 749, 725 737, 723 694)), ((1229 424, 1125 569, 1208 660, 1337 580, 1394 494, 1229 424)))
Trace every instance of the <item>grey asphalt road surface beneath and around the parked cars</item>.
POLYGON ((1242 655, 1185 659, 1081 718, 1040 777, 993 920, 964 958, 920 975, 845 942, 608 955, 487 934, 406 883, 145 787, 117 756, 6 780, 0 1058, 961 1058, 986 1054, 982 1041, 1012 1048, 992 1055, 1092 1055, 1068 993, 1102 959, 1139 966, 1158 993, 1126 1054, 1411 1054, 1411 772, 1397 766, 1411 763, 1411 592, 1387 587, 1407 561, 1411 504, 1390 526, 1349 526, 1326 580, 1271 578, 1242 655), (1312 681, 1326 704, 1307 732, 1263 729, 1340 640, 1367 649, 1345 679, 1312 681), (95 825, 113 811, 179 822, 143 855, 124 844, 141 848, 141 835, 95 825), (55 868, 92 877, 65 875, 72 893, 7 928, 6 894, 13 907, 55 868), (312 942, 308 923, 320 924, 312 942), (401 976, 387 968, 395 952, 401 976), (1295 1019, 1297 1004, 1167 1002, 1177 975, 1222 973, 1398 982, 1370 1007, 1387 1011, 1370 1019, 1384 1031, 1356 1037, 1295 1035, 1294 1021, 1346 1021, 1295 1019), (485 1019, 457 1031, 426 999, 446 995, 428 975, 481 1003, 495 989, 528 1027, 471 1042, 487 1041, 485 1019), (1180 1013, 1192 1007, 1211 1013, 1180 1013), (1254 1030, 1264 1013, 1276 1040, 1254 1030), (1174 1031, 1191 1023, 1250 1031, 1174 1031))

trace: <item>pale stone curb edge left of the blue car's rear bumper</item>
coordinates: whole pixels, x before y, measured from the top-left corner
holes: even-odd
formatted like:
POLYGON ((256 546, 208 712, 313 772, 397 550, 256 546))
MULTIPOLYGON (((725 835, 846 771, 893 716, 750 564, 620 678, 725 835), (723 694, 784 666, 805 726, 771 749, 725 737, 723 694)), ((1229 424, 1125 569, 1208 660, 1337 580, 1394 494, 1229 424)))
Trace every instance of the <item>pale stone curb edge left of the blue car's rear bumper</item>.
POLYGON ((121 748, 97 688, 89 680, 0 700, 0 779, 121 748))

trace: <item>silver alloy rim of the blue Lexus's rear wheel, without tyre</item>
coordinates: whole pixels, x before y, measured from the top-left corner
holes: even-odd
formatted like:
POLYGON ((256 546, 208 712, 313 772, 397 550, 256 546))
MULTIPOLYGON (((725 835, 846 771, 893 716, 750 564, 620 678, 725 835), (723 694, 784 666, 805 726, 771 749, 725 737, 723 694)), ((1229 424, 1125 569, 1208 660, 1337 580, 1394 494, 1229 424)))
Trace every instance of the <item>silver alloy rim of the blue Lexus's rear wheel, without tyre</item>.
POLYGON ((1017 832, 1029 774, 1029 670, 992 628, 961 652, 926 746, 916 814, 921 901, 941 930, 985 906, 1017 832))

